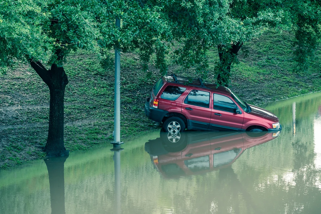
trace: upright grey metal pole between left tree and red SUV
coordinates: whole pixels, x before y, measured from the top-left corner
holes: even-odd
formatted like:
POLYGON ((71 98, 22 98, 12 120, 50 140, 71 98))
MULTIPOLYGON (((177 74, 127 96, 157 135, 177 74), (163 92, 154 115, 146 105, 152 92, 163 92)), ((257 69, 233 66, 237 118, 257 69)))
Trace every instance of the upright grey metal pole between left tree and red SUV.
MULTIPOLYGON (((120 29, 120 19, 116 17, 116 26, 120 29)), ((114 141, 112 144, 121 144, 120 141, 120 49, 115 45, 115 98, 114 98, 114 141)))

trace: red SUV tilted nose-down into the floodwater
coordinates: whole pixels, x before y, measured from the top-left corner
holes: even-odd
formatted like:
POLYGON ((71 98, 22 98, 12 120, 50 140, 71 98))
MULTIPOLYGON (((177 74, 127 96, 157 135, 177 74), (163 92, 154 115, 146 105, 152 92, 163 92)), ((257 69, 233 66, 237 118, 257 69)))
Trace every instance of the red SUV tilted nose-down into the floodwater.
POLYGON ((145 114, 163 122, 165 132, 282 129, 273 113, 242 102, 229 88, 175 74, 157 81, 145 103, 145 114))

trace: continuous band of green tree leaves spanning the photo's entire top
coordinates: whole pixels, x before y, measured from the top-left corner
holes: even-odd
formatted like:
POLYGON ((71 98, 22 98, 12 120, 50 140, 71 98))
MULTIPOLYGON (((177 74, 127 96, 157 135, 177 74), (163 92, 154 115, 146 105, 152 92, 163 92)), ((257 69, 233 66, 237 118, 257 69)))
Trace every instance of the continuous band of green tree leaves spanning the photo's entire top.
POLYGON ((230 54, 233 44, 271 27, 292 28, 295 60, 304 71, 320 40, 315 0, 0 0, 0 10, 1 73, 25 57, 62 66, 71 50, 98 44, 106 56, 113 48, 138 51, 144 70, 155 55, 161 74, 171 53, 177 64, 194 67, 203 78, 218 73, 224 77, 219 84, 226 84, 230 65, 237 63, 236 53, 230 54), (217 47, 223 60, 209 71, 206 53, 217 47))

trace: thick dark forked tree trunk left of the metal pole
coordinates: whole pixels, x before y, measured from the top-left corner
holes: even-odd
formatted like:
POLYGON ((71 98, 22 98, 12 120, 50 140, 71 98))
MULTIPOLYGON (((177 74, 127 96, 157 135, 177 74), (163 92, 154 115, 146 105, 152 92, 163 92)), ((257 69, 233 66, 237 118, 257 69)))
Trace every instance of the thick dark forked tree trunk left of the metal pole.
POLYGON ((64 145, 64 97, 68 78, 63 67, 53 64, 47 70, 40 62, 29 60, 31 67, 48 85, 50 91, 49 129, 44 151, 48 157, 68 155, 64 145))

